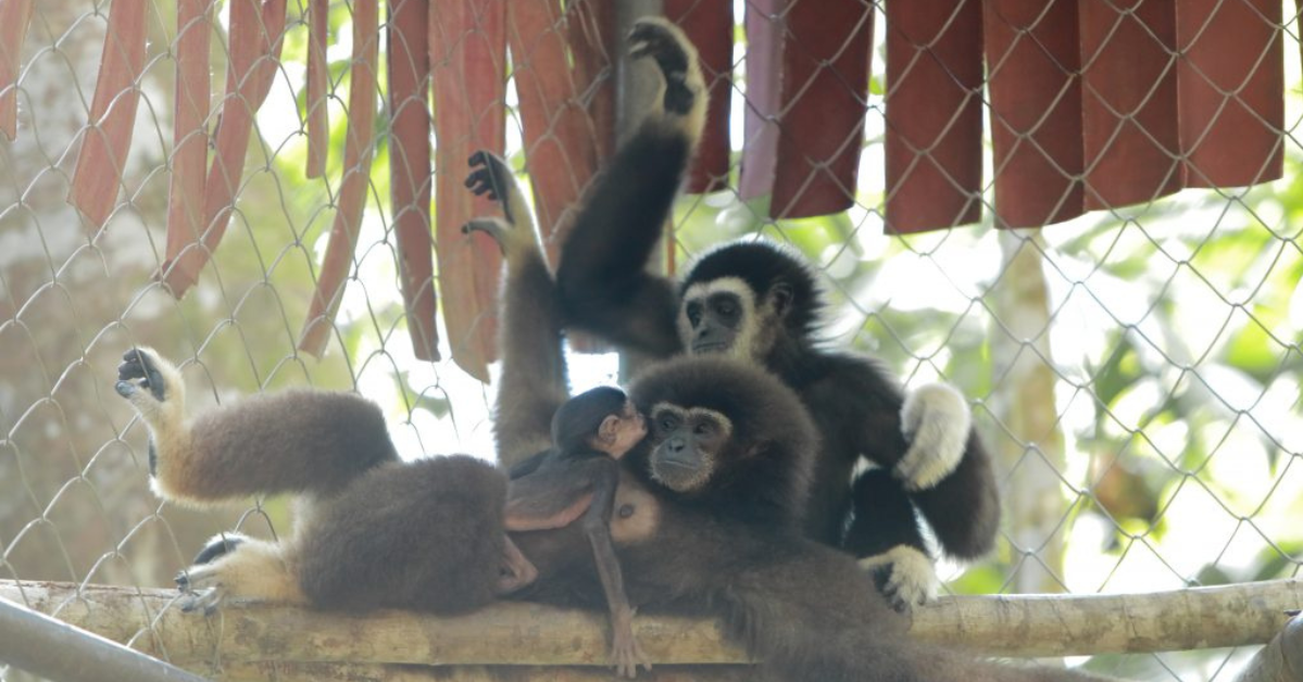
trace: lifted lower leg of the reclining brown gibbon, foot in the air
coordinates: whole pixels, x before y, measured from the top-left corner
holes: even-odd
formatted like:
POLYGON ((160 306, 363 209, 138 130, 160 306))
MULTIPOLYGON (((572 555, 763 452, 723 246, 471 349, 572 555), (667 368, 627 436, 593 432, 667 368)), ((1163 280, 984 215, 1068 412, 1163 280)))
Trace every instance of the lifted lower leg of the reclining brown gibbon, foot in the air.
POLYGON ((181 374, 145 348, 122 355, 115 389, 149 426, 151 485, 171 501, 330 495, 397 461, 379 407, 352 393, 250 396, 188 420, 181 374))

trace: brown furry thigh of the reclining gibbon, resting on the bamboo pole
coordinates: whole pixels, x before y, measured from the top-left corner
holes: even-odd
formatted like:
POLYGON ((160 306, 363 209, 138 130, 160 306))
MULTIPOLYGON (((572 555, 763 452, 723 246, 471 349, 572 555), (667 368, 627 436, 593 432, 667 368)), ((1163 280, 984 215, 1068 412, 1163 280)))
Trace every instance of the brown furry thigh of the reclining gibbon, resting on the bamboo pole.
POLYGON ((378 467, 305 527, 304 593, 326 609, 460 613, 496 596, 506 476, 457 456, 378 467), (455 521, 452 521, 455 519, 455 521))

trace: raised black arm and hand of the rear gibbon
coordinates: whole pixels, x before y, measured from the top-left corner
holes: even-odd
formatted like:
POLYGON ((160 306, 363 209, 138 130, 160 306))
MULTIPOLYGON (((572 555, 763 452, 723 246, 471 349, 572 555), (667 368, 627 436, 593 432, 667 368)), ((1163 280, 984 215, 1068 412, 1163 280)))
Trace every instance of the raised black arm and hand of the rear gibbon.
POLYGON ((652 57, 659 68, 661 107, 598 176, 562 249, 556 285, 568 324, 667 357, 683 350, 678 295, 668 279, 645 268, 701 138, 709 98, 697 52, 672 23, 640 21, 629 46, 631 56, 652 57))

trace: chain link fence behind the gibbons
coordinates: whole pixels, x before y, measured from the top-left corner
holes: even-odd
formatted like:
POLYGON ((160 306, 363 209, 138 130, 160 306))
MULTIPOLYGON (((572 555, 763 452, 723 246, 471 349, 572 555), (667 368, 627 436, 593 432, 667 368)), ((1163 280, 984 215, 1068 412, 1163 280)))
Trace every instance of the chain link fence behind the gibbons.
MULTIPOLYGON (((23 4, 0 0, 0 18, 13 18, 5 12, 21 13, 16 8, 23 4)), ((16 134, 0 139, 0 580, 16 580, 20 593, 23 584, 46 580, 169 587, 214 534, 237 528, 275 536, 278 528, 288 527, 280 500, 251 500, 242 510, 192 510, 152 496, 146 430, 112 389, 119 358, 134 345, 154 346, 180 361, 192 410, 289 385, 356 389, 383 406, 404 456, 469 452, 493 457, 493 385, 459 367, 448 348, 464 329, 438 329, 443 341, 437 361, 418 359, 422 353, 408 333, 413 318, 401 294, 405 266, 395 225, 409 207, 392 206, 390 199, 394 180, 387 169, 400 150, 387 137, 394 107, 386 103, 383 87, 378 89, 378 134, 364 154, 374 156, 374 165, 361 190, 365 211, 357 221, 357 249, 348 260, 339 312, 321 358, 300 350, 332 220, 344 203, 341 178, 348 161, 341 150, 347 122, 356 118, 356 111, 348 109, 358 102, 349 90, 356 75, 348 75, 357 42, 354 4, 328 8, 324 107, 330 155, 323 172, 306 170, 310 3, 291 3, 280 59, 263 60, 274 68, 266 70, 268 90, 253 117, 229 226, 220 249, 211 250, 197 282, 180 299, 155 277, 175 255, 165 234, 172 169, 180 164, 173 142, 180 109, 173 107, 179 33, 172 3, 139 0, 143 23, 138 26, 147 47, 138 75, 128 79, 126 90, 138 95, 138 105, 115 133, 129 135, 130 144, 125 156, 109 156, 120 168, 120 182, 108 190, 107 211, 89 217, 85 208, 79 212, 69 203, 81 150, 103 130, 93 130, 87 121, 95 109, 100 64, 109 60, 106 35, 109 48, 116 35, 108 33, 109 14, 132 12, 132 4, 29 5, 33 13, 20 68, 12 85, 0 83, 0 103, 5 98, 17 103, 16 134)), ((831 303, 827 342, 881 358, 907 385, 946 380, 971 398, 977 427, 998 453, 1006 521, 999 549, 989 560, 966 566, 943 562, 947 588, 956 593, 1148 592, 1298 577, 1303 565, 1303 525, 1298 522, 1303 518, 1303 250, 1296 225, 1303 216, 1303 184, 1296 178, 1303 144, 1296 130, 1303 120, 1303 82, 1294 4, 1286 3, 1281 13, 1276 3, 1274 12, 1261 14, 1269 36, 1264 44, 1276 52, 1251 51, 1253 64, 1281 60, 1283 124, 1273 129, 1269 117, 1255 113, 1260 111, 1256 104, 1242 107, 1277 141, 1259 156, 1260 168, 1282 163, 1282 180, 1239 189, 1196 189, 1224 182, 1208 177, 1212 172, 1183 169, 1197 165, 1200 144, 1212 128, 1194 134, 1194 142, 1173 144, 1164 137, 1170 130, 1145 128, 1153 120, 1145 113, 1148 107, 1165 96, 1161 78, 1187 66, 1207 75, 1204 66, 1187 64, 1195 48, 1162 52, 1165 61, 1152 69, 1136 66, 1135 72, 1156 75, 1130 109, 1114 107, 1105 87, 1083 75, 1089 73, 1091 57, 1076 70, 1058 64, 1062 79, 1078 83, 1079 102, 1085 102, 1081 111, 1095 98, 1123 121, 1102 138, 1098 130, 1072 137, 1042 125, 1068 96, 1067 90, 1048 90, 1046 116, 1031 124, 1011 122, 994 94, 1016 90, 1020 81, 1003 81, 998 87, 1005 90, 997 90, 995 82, 1002 68, 1012 69, 1006 78, 1023 72, 1009 65, 1012 59, 993 59, 990 51, 999 44, 1012 53, 1019 44, 1036 44, 1053 55, 1053 46, 1037 31, 1048 29, 1055 5, 1076 8, 1078 3, 1046 3, 1049 9, 1016 21, 1001 14, 1001 3, 994 1, 985 3, 985 9, 979 3, 955 3, 958 9, 947 9, 941 26, 951 31, 963 29, 966 12, 985 17, 990 89, 984 87, 980 64, 964 66, 977 69, 972 83, 964 68, 936 57, 945 42, 939 33, 936 40, 913 46, 912 53, 894 56, 891 31, 916 35, 904 29, 908 17, 893 16, 896 3, 860 5, 853 26, 876 26, 869 34, 873 39, 860 44, 847 38, 820 47, 834 48, 833 59, 860 48, 872 52, 866 99, 851 98, 866 112, 852 124, 863 125, 863 135, 847 130, 827 157, 851 155, 853 186, 842 187, 850 208, 799 219, 770 217, 790 215, 771 206, 773 194, 735 189, 745 185, 745 163, 762 163, 748 161, 747 150, 766 135, 783 134, 748 125, 757 115, 779 120, 786 107, 779 100, 761 102, 769 95, 757 85, 760 69, 773 65, 773 55, 754 52, 769 43, 754 39, 760 31, 753 23, 767 21, 779 36, 788 20, 796 23, 795 13, 786 14, 792 5, 770 4, 734 8, 739 39, 723 51, 727 68, 713 70, 718 79, 714 105, 726 112, 727 176, 708 177, 704 186, 717 191, 680 199, 670 258, 681 263, 713 243, 753 233, 790 242, 825 275, 831 303), (999 35, 1001 22, 1009 35, 999 35), (752 43, 740 38, 744 25, 752 43), (906 111, 902 104, 887 113, 885 104, 896 87, 887 73, 903 83, 911 73, 933 66, 958 86, 958 96, 945 104, 952 111, 942 104, 933 105, 941 108, 936 112, 906 111), (893 147, 899 143, 891 138, 915 134, 902 128, 900 116, 939 117, 941 122, 930 142, 906 141, 913 159, 896 165, 898 173, 904 170, 893 178, 890 168, 899 163, 893 157, 900 147, 893 147), (984 117, 990 129, 985 135, 984 117), (967 170, 956 172, 952 159, 942 159, 949 154, 943 141, 971 125, 980 141, 976 165, 963 161, 958 167, 967 170), (1135 191, 1145 187, 1144 197, 1110 198, 1111 190, 1098 187, 1110 186, 1127 167, 1108 156, 1132 134, 1156 144, 1169 169, 1148 185, 1123 182, 1135 191), (1076 141, 1085 141, 1087 157, 1074 169, 1062 163, 1065 152, 1058 147, 1076 141), (1097 146, 1093 161, 1092 143, 1097 146), (1041 208, 1040 223, 1055 221, 1045 229, 997 229, 1022 225, 1010 217, 1009 207, 1016 200, 1005 199, 1012 195, 1002 194, 998 180, 1019 163, 1010 150, 1020 146, 1044 156, 1032 176, 1040 173, 1040 180, 1059 181, 1063 187, 1041 208), (887 236, 889 228, 915 232, 907 225, 911 219, 899 217, 911 208, 889 207, 921 191, 907 185, 911 173, 928 172, 924 168, 932 168, 939 186, 960 199, 956 204, 930 185, 928 191, 936 194, 925 194, 924 200, 937 206, 925 208, 949 212, 951 223, 975 224, 887 236), (1173 180, 1178 176, 1203 180, 1173 180), (1177 191, 1181 187, 1192 189, 1177 191), (1079 210, 1065 210, 1072 206, 1079 210), (899 212, 890 217, 889 211, 899 212)), ((1152 9, 1161 3, 1141 4, 1152 9)), ((434 8, 434 22, 440 21, 443 5, 434 8)), ((1257 10, 1273 4, 1221 0, 1210 5, 1210 16, 1230 12, 1222 5, 1257 10)), ((678 9, 680 21, 691 22, 704 5, 684 7, 678 9)), ((1100 7, 1123 18, 1087 36, 1096 47, 1121 40, 1132 29, 1153 40, 1162 38, 1153 22, 1128 29, 1127 22, 1143 9, 1080 0, 1080 16, 1100 7)), ((212 73, 223 73, 228 61, 237 60, 228 49, 227 9, 227 3, 218 3, 203 20, 211 22, 203 26, 211 29, 212 73)), ((575 12, 563 13, 552 30, 582 34, 584 21, 575 12)), ((384 33, 384 14, 380 23, 384 33)), ((0 26, 0 36, 12 35, 13 27, 12 22, 0 26)), ((516 47, 519 35, 516 40, 512 62, 503 69, 516 78, 499 107, 507 112, 506 150, 517 168, 528 164, 536 176, 559 173, 560 180, 584 185, 588 174, 568 176, 582 174, 572 169, 581 164, 543 164, 530 156, 545 154, 539 150, 549 141, 567 133, 564 122, 554 118, 542 134, 526 134, 528 112, 521 103, 530 95, 520 87, 521 74, 530 69, 530 52, 516 47)), ((382 49, 392 55, 392 34, 382 49)), ((610 85, 615 49, 594 52, 597 85, 579 92, 585 104, 610 85)), ((126 46, 121 52, 128 52, 126 46)), ((1104 49, 1087 52, 1098 56, 1104 49)), ((382 66, 377 70, 384 73, 382 66)), ((1217 77, 1207 78, 1221 98, 1216 111, 1247 102, 1247 81, 1224 87, 1214 82, 1217 77)), ((844 85, 855 92, 857 86, 852 86, 844 85)), ((198 124, 206 131, 224 117, 219 116, 224 98, 246 98, 242 90, 224 95, 220 79, 211 91, 211 105, 198 124)), ((794 92, 788 102, 817 96, 814 87, 794 92)), ((603 116, 616 117, 614 112, 603 116)), ((222 125, 232 124, 227 118, 222 125)), ((1252 144, 1248 133, 1244 137, 1244 146, 1252 144)), ((212 141, 201 135, 201 142, 212 141)), ((434 143, 438 147, 440 141, 434 143)), ((465 172, 460 159, 456 165, 437 159, 435 180, 418 181, 425 191, 439 178, 460 184, 465 172)), ((810 161, 805 172, 831 177, 844 165, 825 159, 810 161)), ((1269 176, 1261 172, 1261 180, 1269 176)), ((539 177, 532 180, 539 193, 539 177)), ((795 186, 791 191, 799 199, 820 185, 812 180, 795 186)), ((1032 211, 1018 206, 1023 215, 1032 211)), ((566 217, 554 213, 547 220, 566 217)), ((440 267, 448 266, 440 262, 440 267)), ((616 371, 610 354, 576 357, 572 381, 576 388, 611 381, 616 371)), ((65 608, 78 608, 77 600, 53 614, 65 608)), ((128 644, 150 638, 145 629, 128 644)), ((1091 666, 1143 679, 1230 679, 1250 653, 1101 656, 1091 666)), ((0 666, 0 679, 22 678, 0 666)))

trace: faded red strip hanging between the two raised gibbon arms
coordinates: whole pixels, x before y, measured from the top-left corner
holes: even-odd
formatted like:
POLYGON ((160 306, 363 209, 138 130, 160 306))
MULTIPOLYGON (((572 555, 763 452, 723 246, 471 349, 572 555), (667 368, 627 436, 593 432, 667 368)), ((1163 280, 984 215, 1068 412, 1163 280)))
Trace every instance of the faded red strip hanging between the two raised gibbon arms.
POLYGON ((580 98, 558 4, 513 0, 507 21, 534 211, 556 263, 579 198, 601 164, 597 131, 580 98))

